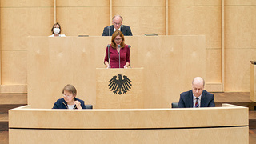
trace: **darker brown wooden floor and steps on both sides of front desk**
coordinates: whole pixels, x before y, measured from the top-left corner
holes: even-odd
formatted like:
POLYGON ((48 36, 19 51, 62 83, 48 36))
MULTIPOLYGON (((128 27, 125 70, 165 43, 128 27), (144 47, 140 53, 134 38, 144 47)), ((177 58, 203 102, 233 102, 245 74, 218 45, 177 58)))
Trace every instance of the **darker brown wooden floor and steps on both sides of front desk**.
MULTIPOLYGON (((250 101, 250 93, 213 93, 216 106, 230 103, 238 106, 249 107, 249 136, 250 143, 256 142, 256 102, 250 101)), ((26 94, 0 94, 0 143, 8 143, 8 114, 7 111, 14 107, 27 104, 26 94)))

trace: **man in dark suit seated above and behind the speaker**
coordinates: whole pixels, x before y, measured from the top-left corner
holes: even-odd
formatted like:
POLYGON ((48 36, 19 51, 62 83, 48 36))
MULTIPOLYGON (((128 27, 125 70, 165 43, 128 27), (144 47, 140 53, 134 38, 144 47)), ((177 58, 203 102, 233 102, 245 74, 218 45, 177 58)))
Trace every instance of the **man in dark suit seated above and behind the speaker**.
POLYGON ((102 36, 112 36, 115 30, 120 30, 124 36, 133 36, 130 26, 122 25, 122 17, 120 15, 115 15, 112 18, 112 24, 104 28, 102 36))

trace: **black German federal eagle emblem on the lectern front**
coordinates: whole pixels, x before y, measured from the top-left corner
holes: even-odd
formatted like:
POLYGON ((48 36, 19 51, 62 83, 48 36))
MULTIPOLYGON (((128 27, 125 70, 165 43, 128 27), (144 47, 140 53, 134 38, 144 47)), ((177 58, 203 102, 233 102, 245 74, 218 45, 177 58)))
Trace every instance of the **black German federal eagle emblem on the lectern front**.
POLYGON ((118 78, 114 76, 109 82, 110 90, 113 91, 114 94, 126 94, 126 92, 131 89, 130 79, 125 75, 122 79, 122 74, 118 74, 118 78))

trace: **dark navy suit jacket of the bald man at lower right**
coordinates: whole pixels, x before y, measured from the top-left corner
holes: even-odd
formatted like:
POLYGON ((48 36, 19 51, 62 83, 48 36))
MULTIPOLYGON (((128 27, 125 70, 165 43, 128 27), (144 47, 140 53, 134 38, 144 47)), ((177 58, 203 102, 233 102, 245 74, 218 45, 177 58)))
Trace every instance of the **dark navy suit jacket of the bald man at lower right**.
MULTIPOLYGON (((187 107, 193 107, 193 106, 194 106, 194 101, 193 101, 192 90, 189 90, 180 94, 180 99, 178 102, 179 108, 187 108, 187 107)), ((206 90, 203 90, 200 107, 215 107, 214 94, 210 94, 206 90)))

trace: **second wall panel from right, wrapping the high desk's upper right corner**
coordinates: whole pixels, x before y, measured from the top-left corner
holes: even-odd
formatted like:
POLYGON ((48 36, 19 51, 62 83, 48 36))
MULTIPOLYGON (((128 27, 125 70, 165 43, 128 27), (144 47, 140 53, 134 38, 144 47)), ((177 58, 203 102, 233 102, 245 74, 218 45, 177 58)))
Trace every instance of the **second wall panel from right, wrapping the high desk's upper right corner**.
POLYGON ((170 1, 170 35, 206 35, 206 82, 222 82, 221 1, 170 1))

